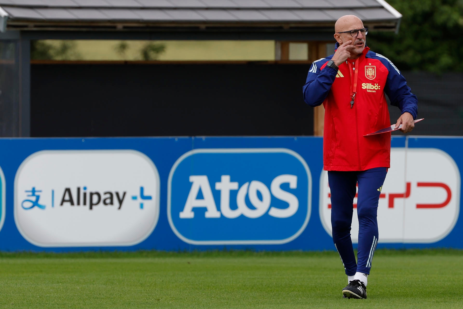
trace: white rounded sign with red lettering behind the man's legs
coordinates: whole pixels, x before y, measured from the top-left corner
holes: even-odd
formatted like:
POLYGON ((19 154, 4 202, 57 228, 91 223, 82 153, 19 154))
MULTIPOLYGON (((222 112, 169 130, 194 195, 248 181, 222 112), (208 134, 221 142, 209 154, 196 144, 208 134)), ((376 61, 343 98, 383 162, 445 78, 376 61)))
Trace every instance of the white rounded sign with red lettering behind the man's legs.
MULTIPOLYGON (((434 243, 455 227, 460 210, 460 173, 455 161, 435 148, 393 148, 382 186, 378 228, 382 243, 434 243), (433 162, 433 164, 429 164, 433 162), (423 167, 426 168, 423 168, 423 167)), ((357 194, 354 208, 357 208, 357 194)), ((320 219, 330 235, 331 202, 327 172, 320 177, 320 219)), ((354 212, 351 238, 358 241, 354 212)))

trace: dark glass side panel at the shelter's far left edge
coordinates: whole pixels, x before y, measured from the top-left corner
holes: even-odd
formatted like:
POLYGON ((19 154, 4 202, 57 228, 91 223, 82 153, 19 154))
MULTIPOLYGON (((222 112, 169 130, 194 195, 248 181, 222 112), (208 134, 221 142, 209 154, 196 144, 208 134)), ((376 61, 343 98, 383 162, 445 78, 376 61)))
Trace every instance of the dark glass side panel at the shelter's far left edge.
POLYGON ((19 136, 19 66, 16 42, 0 41, 0 137, 19 136))

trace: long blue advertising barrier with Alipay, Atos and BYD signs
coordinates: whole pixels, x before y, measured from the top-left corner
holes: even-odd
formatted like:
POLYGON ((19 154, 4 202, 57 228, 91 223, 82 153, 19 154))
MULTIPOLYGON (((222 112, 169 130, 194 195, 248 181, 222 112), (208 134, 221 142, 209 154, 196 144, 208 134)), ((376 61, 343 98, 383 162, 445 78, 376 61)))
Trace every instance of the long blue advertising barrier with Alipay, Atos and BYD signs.
MULTIPOLYGON (((321 138, 0 139, 0 146, 3 251, 334 250, 321 138)), ((463 138, 399 136, 391 146, 378 247, 463 248, 463 138)), ((354 215, 354 244, 357 231, 354 215)))

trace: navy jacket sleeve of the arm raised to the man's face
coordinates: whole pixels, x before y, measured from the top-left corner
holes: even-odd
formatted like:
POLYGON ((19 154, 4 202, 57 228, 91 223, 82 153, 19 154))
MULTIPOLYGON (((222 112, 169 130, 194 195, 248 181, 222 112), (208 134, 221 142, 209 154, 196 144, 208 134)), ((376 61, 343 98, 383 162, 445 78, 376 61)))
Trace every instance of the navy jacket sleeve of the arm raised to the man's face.
POLYGON ((327 63, 331 57, 321 58, 312 63, 307 74, 306 84, 302 87, 304 101, 312 107, 319 106, 325 101, 338 73, 338 71, 329 67, 320 70, 320 67, 327 63))

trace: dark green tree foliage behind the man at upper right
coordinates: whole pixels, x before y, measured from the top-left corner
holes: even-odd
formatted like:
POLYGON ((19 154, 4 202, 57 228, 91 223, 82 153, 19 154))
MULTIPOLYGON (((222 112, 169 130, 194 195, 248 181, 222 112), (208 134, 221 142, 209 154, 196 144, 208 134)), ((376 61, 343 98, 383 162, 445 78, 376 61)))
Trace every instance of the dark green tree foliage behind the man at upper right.
POLYGON ((401 70, 463 72, 463 0, 388 0, 403 17, 398 34, 369 32, 367 44, 401 70))

